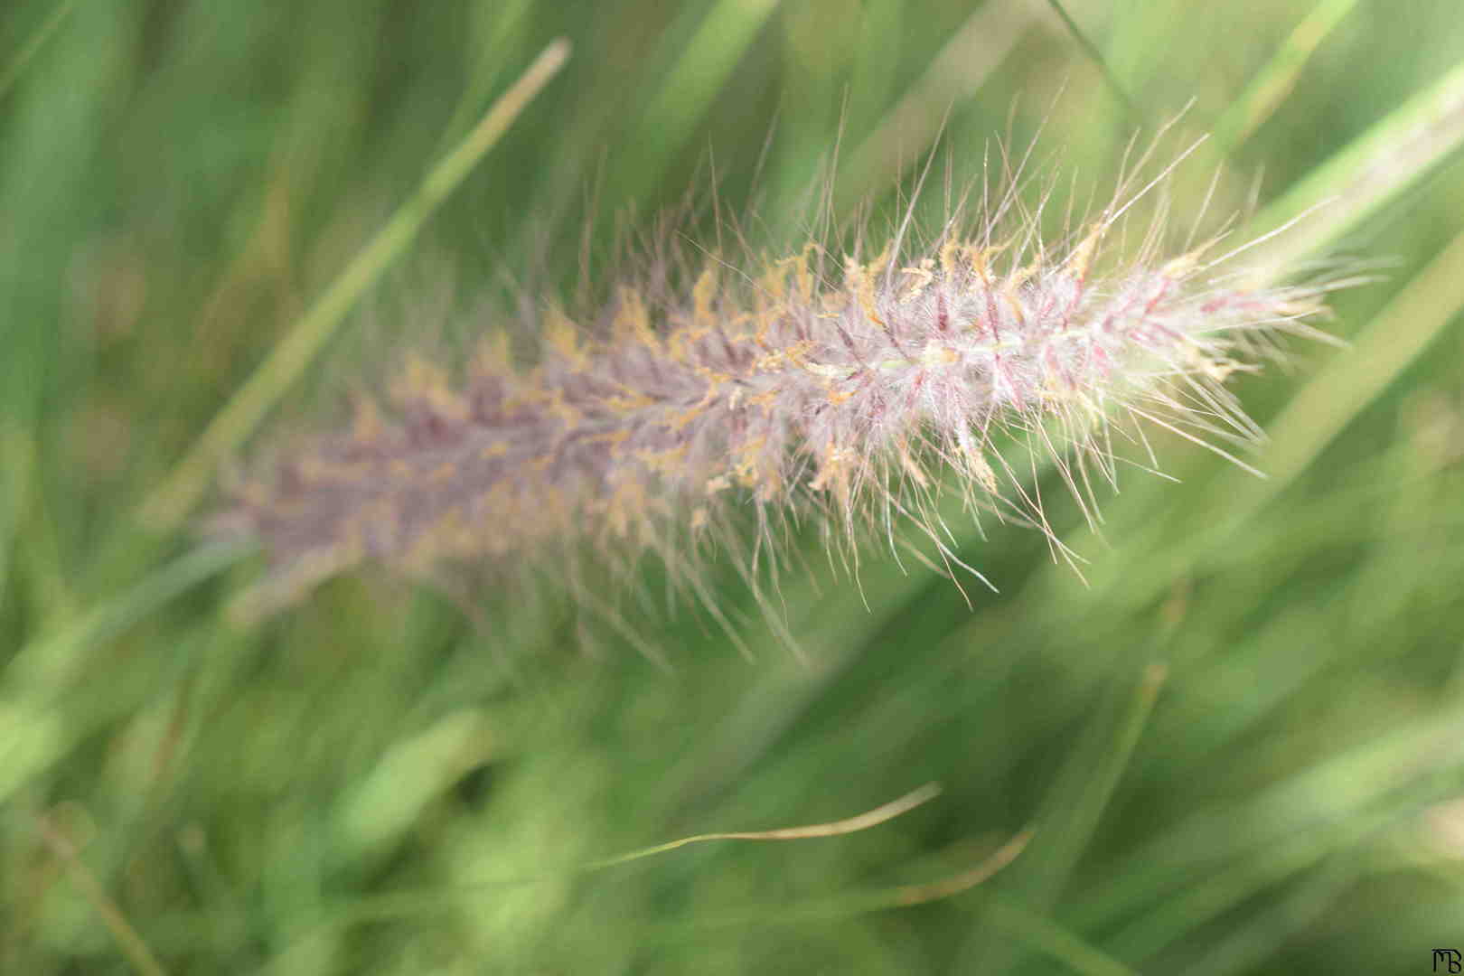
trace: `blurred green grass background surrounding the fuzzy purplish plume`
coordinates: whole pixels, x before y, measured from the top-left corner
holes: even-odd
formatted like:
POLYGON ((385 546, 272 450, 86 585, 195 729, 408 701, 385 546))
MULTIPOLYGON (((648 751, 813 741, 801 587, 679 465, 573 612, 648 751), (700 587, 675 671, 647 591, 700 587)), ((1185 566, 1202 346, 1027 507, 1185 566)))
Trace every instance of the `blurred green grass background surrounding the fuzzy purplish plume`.
POLYGON ((1457 0, 1064 13, 4 4, 0 972, 1290 976, 1464 950, 1457 0), (1129 135, 1192 98, 1181 127, 1217 139, 1177 218, 1224 164, 1218 211, 1335 195, 1357 219, 1326 250, 1388 268, 1335 301, 1351 348, 1296 342, 1290 372, 1236 383, 1271 480, 1157 438, 1181 481, 1126 476, 1101 533, 1042 483, 1086 585, 988 524, 963 552, 1001 593, 972 607, 881 553, 865 607, 811 544, 782 584, 805 661, 755 610, 745 660, 654 566, 599 591, 669 670, 549 572, 474 590, 489 628, 372 572, 231 625, 258 563, 139 505, 556 37, 564 72, 271 420, 515 296, 603 287, 618 221, 709 173, 769 243, 830 167, 837 206, 887 214, 933 148, 965 180, 1039 129, 1042 165, 1101 198, 1129 135), (1360 181, 1338 176, 1379 124, 1360 181), (865 831, 575 871, 931 780, 865 831), (994 878, 941 887, 1023 830, 994 878))

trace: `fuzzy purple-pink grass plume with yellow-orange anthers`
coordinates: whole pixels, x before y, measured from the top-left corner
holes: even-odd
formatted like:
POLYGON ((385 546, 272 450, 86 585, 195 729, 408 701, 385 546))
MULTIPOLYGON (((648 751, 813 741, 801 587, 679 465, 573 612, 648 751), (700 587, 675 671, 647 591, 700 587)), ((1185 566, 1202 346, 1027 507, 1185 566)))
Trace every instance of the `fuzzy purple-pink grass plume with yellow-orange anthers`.
POLYGON ((805 515, 845 552, 914 525, 949 569, 965 565, 935 515, 952 473, 972 512, 1045 530, 1015 442, 1089 512, 1116 440, 1146 451, 1145 424, 1224 454, 1259 436, 1224 380, 1277 331, 1309 331, 1326 285, 1253 284, 1277 275, 1234 269, 1244 247, 1220 253, 1224 236, 1165 256, 1162 214, 1113 260, 1161 179, 1056 244, 1009 189, 924 243, 906 217, 874 258, 810 243, 754 268, 709 259, 685 288, 625 281, 580 320, 546 309, 533 369, 501 334, 458 376, 413 359, 388 411, 360 399, 350 430, 236 493, 221 524, 272 559, 253 607, 367 559, 518 562, 590 540, 678 569, 698 536, 735 538, 744 509, 758 543, 723 547, 744 569, 805 515))

